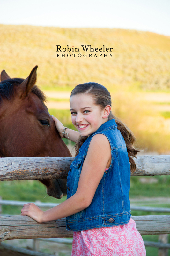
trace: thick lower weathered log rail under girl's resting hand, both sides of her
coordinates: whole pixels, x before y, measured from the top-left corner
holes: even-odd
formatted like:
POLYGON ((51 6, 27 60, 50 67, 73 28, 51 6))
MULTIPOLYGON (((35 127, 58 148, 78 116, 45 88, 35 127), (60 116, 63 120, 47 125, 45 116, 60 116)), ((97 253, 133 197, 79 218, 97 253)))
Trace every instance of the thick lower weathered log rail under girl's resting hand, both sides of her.
MULTIPOLYGON (((148 215, 133 216, 141 235, 170 234, 170 216, 148 215)), ((0 217, 0 242, 23 238, 73 237, 66 230, 65 219, 37 223, 28 216, 0 217)))

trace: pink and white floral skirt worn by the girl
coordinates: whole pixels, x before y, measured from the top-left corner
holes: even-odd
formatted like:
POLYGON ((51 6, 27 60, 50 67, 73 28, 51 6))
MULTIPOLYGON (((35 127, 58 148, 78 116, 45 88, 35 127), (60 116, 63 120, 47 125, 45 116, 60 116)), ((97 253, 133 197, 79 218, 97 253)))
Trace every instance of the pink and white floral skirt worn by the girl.
POLYGON ((74 232, 71 256, 145 256, 142 236, 128 224, 74 232))

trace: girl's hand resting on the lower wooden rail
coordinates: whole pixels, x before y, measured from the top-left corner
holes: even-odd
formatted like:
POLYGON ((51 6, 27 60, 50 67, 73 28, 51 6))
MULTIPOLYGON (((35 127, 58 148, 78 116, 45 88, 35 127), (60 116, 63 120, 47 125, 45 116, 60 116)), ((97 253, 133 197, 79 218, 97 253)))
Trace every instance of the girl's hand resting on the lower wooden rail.
POLYGON ((34 203, 24 204, 23 208, 21 209, 21 215, 27 215, 37 221, 38 223, 42 223, 42 215, 44 211, 42 211, 38 206, 34 203))

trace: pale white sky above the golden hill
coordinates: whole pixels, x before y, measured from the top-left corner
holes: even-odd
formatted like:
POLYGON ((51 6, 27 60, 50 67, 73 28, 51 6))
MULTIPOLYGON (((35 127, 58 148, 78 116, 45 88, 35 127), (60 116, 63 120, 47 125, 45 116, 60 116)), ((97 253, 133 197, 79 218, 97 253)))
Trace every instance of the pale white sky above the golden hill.
POLYGON ((170 36, 170 0, 0 0, 0 24, 124 28, 170 36))

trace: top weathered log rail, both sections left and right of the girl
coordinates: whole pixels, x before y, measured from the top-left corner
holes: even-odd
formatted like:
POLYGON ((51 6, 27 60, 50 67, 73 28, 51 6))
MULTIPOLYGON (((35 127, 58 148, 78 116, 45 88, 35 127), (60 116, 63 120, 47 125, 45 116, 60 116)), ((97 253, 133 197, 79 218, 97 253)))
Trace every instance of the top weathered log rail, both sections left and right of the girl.
MULTIPOLYGON (((73 157, 0 158, 0 180, 42 180, 67 178, 73 157)), ((137 156, 132 176, 170 175, 170 156, 137 156)))

